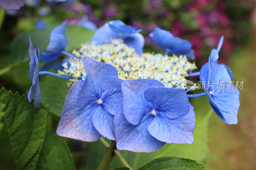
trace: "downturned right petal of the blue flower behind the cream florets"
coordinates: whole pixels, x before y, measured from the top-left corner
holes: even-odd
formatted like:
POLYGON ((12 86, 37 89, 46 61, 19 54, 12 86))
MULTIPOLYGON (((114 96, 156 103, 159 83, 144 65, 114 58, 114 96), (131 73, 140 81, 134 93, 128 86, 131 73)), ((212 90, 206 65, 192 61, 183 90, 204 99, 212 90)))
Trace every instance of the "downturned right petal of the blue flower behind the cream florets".
POLYGON ((145 40, 140 33, 132 33, 124 36, 124 43, 128 46, 131 45, 136 50, 136 53, 143 53, 145 40))

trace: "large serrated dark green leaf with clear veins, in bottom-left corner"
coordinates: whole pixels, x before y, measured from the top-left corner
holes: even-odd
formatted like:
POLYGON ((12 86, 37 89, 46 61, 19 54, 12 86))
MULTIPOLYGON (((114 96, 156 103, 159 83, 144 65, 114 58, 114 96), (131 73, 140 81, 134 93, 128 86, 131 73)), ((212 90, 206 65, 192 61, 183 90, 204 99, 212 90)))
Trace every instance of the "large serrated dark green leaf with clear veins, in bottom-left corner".
POLYGON ((4 128, 0 135, 0 166, 3 169, 35 169, 44 143, 49 108, 34 108, 25 95, 0 91, 4 128))

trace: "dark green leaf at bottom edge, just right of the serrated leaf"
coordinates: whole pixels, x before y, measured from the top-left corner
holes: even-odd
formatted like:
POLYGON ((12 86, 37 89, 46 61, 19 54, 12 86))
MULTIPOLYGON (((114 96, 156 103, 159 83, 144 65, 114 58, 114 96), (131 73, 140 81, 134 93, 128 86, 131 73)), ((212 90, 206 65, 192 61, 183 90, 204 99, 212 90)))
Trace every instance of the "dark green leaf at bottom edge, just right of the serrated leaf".
POLYGON ((36 169, 75 169, 66 142, 52 132, 47 132, 36 169))

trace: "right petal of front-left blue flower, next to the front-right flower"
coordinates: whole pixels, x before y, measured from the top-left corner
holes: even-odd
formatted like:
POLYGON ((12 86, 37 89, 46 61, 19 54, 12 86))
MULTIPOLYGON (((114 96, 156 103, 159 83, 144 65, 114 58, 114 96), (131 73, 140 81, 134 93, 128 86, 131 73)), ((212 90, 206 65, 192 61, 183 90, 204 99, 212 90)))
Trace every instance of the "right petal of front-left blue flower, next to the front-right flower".
POLYGON ((124 80, 117 77, 106 77, 100 84, 103 105, 111 115, 115 115, 117 107, 123 101, 121 83, 124 80))

